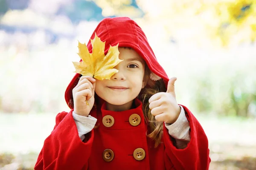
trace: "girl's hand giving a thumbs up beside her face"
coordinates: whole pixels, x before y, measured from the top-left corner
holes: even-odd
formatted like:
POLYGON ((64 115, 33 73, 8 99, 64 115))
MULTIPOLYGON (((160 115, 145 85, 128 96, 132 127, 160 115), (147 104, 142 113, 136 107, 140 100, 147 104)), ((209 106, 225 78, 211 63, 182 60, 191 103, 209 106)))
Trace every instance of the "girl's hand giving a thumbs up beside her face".
POLYGON ((154 94, 148 100, 151 114, 157 121, 172 124, 180 115, 180 106, 177 104, 174 88, 176 80, 176 77, 169 79, 167 91, 154 94))

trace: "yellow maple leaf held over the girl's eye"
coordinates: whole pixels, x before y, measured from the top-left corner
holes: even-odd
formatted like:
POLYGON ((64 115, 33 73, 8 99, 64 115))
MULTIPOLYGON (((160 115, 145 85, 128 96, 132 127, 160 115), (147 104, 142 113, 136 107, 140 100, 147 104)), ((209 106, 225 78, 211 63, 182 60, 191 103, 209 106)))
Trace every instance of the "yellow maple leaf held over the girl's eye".
POLYGON ((93 52, 89 53, 86 44, 78 42, 79 57, 82 62, 73 62, 76 73, 83 76, 91 76, 95 79, 103 80, 110 79, 113 74, 117 73, 118 70, 114 67, 119 64, 122 60, 118 58, 118 44, 111 46, 108 53, 104 54, 105 42, 102 42, 95 33, 95 38, 91 40, 93 52))

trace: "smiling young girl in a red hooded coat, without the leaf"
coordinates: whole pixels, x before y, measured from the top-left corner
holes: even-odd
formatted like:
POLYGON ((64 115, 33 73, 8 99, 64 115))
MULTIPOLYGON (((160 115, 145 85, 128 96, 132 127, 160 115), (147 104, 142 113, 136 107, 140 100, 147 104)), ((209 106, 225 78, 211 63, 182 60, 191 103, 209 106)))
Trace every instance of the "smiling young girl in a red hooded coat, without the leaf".
POLYGON ((177 104, 176 78, 167 77, 142 29, 115 17, 95 32, 105 54, 119 43, 119 72, 102 81, 75 75, 65 92, 71 111, 56 116, 35 170, 207 170, 207 136, 177 104))

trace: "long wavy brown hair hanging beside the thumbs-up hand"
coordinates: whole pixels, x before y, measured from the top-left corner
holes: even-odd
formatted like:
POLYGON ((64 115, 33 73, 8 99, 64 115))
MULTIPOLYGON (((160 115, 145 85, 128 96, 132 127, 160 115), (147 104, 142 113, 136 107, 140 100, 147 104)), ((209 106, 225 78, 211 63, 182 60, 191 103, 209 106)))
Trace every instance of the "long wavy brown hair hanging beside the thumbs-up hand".
POLYGON ((151 109, 149 108, 149 102, 151 96, 157 94, 159 92, 166 91, 166 85, 163 79, 157 80, 154 82, 149 78, 151 71, 149 70, 148 66, 145 65, 145 74, 144 74, 144 81, 147 81, 147 86, 142 89, 139 99, 142 101, 143 104, 143 113, 145 121, 148 123, 148 132, 147 136, 155 141, 155 146, 157 147, 162 139, 163 136, 163 122, 158 122, 151 114, 151 109))

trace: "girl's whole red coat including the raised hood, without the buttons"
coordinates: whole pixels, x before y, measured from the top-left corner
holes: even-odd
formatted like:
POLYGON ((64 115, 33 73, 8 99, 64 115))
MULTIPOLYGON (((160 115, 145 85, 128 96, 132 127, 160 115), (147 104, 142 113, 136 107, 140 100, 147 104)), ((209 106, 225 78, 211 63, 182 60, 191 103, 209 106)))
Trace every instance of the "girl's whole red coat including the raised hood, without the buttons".
MULTIPOLYGON (((151 72, 164 80, 167 87, 169 78, 157 62, 144 32, 137 23, 127 17, 106 18, 99 23, 95 32, 102 41, 105 41, 105 53, 109 45, 114 46, 117 43, 119 47, 133 48, 145 60, 151 72)), ((94 35, 93 32, 91 39, 94 35)), ((90 42, 87 47, 91 52, 90 42)), ((70 104, 70 99, 73 98, 72 89, 77 85, 79 76, 79 74, 75 75, 65 92, 65 99, 71 111, 61 112, 56 116, 56 125, 44 142, 35 170, 207 170, 209 168, 207 136, 197 119, 185 106, 183 108, 189 121, 191 136, 185 149, 177 149, 174 146, 166 127, 163 128, 162 143, 154 148, 154 142, 146 137, 148 127, 138 99, 136 99, 136 109, 122 113, 106 111, 105 105, 102 105, 102 108, 101 106, 98 109, 94 108, 90 115, 97 118, 96 125, 99 127, 87 133, 86 139, 82 142, 72 116, 73 105, 70 104), (131 125, 129 121, 134 113, 141 118, 137 126, 131 125), (105 115, 113 117, 114 123, 111 127, 105 127, 103 124, 102 118, 105 115), (136 150, 138 148, 140 149, 136 150)), ((108 119, 104 121, 109 123, 108 119)))

